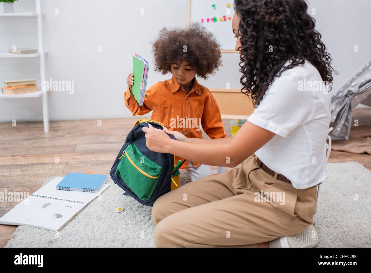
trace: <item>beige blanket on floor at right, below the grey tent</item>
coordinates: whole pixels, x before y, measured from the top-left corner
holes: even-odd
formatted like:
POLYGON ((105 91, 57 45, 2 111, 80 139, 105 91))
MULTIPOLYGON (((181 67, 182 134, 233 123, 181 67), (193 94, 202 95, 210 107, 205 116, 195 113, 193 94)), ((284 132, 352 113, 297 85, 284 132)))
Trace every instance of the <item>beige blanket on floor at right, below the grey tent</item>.
POLYGON ((348 140, 333 140, 334 151, 352 152, 354 154, 371 154, 371 126, 352 126, 348 140))

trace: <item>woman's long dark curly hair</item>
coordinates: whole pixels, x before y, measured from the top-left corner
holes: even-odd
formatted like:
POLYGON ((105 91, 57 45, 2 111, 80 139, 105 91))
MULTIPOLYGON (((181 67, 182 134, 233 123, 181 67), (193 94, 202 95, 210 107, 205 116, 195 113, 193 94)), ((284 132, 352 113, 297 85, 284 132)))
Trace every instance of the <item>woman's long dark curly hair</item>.
POLYGON ((255 107, 275 77, 305 59, 331 90, 335 70, 304 0, 235 0, 234 8, 240 18, 241 92, 251 96, 255 107), (284 66, 288 60, 291 63, 284 66))

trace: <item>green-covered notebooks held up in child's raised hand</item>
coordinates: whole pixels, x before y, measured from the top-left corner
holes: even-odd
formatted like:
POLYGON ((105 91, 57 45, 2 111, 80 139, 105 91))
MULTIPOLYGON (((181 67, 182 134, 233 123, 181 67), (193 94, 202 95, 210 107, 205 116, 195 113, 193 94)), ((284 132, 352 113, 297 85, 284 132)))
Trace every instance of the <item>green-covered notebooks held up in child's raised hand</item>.
POLYGON ((144 94, 147 88, 148 62, 137 53, 133 56, 133 74, 134 84, 131 87, 131 93, 139 106, 143 105, 144 94))

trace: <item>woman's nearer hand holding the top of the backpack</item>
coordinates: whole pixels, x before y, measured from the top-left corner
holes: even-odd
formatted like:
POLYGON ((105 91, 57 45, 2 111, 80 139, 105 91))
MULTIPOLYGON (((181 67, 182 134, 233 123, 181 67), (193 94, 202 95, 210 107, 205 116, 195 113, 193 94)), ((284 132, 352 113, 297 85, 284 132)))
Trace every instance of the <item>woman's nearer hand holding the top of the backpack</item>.
POLYGON ((171 138, 163 130, 154 128, 152 125, 143 127, 142 130, 145 132, 145 141, 148 149, 154 152, 167 153, 167 147, 171 138))

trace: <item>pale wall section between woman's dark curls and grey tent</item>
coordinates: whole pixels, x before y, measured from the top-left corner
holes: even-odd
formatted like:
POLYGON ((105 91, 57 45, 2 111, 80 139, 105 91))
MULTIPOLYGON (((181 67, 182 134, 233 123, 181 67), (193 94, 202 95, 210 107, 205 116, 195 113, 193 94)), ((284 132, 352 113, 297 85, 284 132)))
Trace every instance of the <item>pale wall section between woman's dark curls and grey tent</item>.
MULTIPOLYGON (((309 0, 316 9, 316 29, 332 57, 334 93, 371 57, 369 0, 309 0), (359 52, 354 52, 354 47, 359 52)), ((332 92, 332 91, 331 91, 332 92)))

